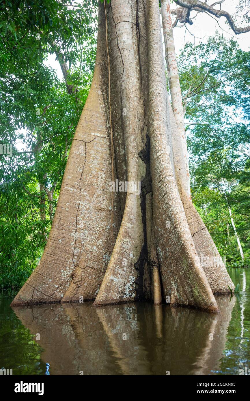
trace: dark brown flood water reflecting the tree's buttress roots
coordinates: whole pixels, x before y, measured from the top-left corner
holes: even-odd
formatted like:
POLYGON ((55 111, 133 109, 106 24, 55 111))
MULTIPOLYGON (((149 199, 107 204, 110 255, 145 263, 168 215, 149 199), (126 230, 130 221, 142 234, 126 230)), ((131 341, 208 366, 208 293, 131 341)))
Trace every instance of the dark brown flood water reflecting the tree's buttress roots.
POLYGON ((0 296, 0 368, 13 375, 238 375, 250 368, 250 269, 220 314, 148 302, 10 308, 0 296), (40 340, 38 339, 40 336, 40 340))

